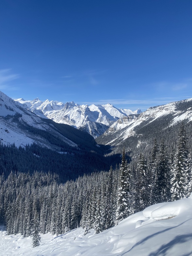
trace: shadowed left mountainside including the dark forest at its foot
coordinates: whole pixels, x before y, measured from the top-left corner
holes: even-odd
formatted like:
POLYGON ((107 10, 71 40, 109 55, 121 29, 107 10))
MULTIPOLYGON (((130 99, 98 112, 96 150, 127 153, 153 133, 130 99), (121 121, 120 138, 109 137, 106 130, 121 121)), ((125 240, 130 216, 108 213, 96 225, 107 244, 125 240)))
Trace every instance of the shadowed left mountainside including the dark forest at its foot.
POLYGON ((37 116, 0 92, 0 174, 50 171, 66 182, 119 163, 120 157, 104 156, 109 148, 97 145, 87 132, 37 116))

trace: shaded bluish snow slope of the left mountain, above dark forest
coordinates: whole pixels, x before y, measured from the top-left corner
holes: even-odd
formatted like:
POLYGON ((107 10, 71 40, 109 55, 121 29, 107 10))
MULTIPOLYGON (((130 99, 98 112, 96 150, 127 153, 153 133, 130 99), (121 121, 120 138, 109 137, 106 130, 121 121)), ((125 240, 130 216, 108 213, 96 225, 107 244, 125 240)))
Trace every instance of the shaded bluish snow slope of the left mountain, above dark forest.
MULTIPOLYGON (((34 104, 39 104, 39 100, 34 100, 34 104)), ((39 110, 40 111, 40 110, 39 110)), ((28 111, 25 105, 12 100, 0 91, 0 141, 6 145, 15 143, 15 146, 25 146, 33 142, 39 143, 41 146, 56 148, 54 144, 50 144, 46 136, 38 135, 39 132, 32 133, 27 127, 32 127, 36 131, 44 131, 51 133, 51 136, 57 136, 61 141, 71 146, 77 146, 71 140, 62 136, 51 125, 43 122, 37 115, 28 111)), ((41 132, 42 133, 42 132, 41 132)))

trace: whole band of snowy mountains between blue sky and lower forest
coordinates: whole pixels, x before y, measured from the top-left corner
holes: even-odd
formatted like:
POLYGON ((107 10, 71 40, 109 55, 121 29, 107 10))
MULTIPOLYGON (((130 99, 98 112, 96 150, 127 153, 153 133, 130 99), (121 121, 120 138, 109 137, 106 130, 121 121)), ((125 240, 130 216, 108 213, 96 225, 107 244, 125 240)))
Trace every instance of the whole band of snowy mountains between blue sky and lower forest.
MULTIPOLYGON (((151 107, 140 113, 139 109, 133 112, 118 109, 111 104, 90 106, 78 105, 74 102, 63 104, 48 100, 41 102, 38 98, 33 101, 24 99, 13 101, 0 92, 0 111, 2 128, 0 139, 7 144, 15 143, 16 146, 20 146, 38 142, 42 146, 60 150, 58 146, 53 145, 53 142, 50 143, 50 139, 49 141, 45 139, 45 136, 41 137, 40 134, 31 133, 30 129, 26 128, 27 125, 27 127, 40 129, 41 133, 45 131, 50 136, 57 136, 59 140, 61 139, 73 148, 79 145, 77 140, 74 141, 74 131, 82 130, 94 137, 100 135, 96 138, 96 143, 108 145, 113 152, 121 153, 122 148, 125 147, 127 151, 136 153, 137 151, 147 152, 147 147, 151 147, 154 138, 164 137, 167 143, 172 145, 172 137, 176 137, 182 120, 185 121, 186 128, 190 131, 192 99, 151 107), (54 120, 53 123, 50 123, 50 119, 54 120), (60 128, 60 126, 56 128, 56 122, 57 126, 59 123, 68 123, 72 130, 60 128), (21 127, 21 124, 25 125, 25 128, 21 127), (62 129, 62 134, 59 129, 62 129), (63 136, 66 135, 64 130, 70 130, 71 135, 63 136), (169 136, 170 134, 173 136, 169 136)), ((87 140, 90 139, 87 138, 87 140)))

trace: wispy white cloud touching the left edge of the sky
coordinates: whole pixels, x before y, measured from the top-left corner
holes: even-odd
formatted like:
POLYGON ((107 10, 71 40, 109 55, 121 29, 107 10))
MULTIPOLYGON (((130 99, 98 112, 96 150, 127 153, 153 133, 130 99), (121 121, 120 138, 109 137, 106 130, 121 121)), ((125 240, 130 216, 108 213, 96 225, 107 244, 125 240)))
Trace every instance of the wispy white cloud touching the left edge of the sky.
POLYGON ((0 70, 0 89, 16 90, 17 87, 11 86, 10 82, 18 78, 19 78, 19 74, 12 74, 11 69, 1 69, 0 70))

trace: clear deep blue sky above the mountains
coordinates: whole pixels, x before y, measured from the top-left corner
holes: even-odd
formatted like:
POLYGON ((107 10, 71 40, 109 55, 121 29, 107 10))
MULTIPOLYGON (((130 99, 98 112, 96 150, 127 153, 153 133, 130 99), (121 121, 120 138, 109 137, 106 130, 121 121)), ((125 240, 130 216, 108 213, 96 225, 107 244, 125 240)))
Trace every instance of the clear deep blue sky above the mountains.
POLYGON ((142 111, 192 98, 191 0, 1 0, 0 90, 142 111))

